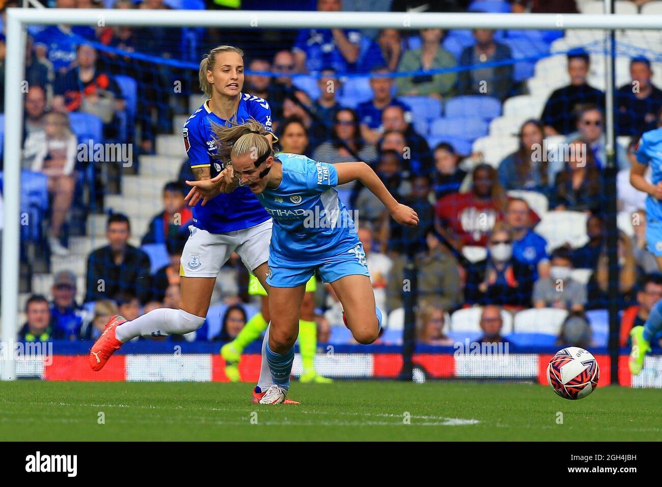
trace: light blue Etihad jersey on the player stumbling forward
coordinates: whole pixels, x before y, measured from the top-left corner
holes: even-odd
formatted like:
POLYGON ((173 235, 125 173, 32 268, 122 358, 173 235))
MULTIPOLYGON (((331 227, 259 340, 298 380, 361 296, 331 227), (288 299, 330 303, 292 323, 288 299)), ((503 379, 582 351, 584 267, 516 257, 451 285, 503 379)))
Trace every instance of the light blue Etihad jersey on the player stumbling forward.
POLYGON ((354 221, 338 199, 338 172, 333 164, 281 152, 283 180, 265 188, 258 199, 273 218, 274 258, 298 262, 346 252, 359 243, 354 221))

